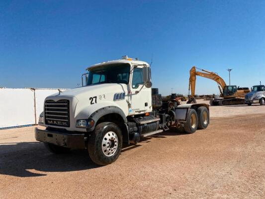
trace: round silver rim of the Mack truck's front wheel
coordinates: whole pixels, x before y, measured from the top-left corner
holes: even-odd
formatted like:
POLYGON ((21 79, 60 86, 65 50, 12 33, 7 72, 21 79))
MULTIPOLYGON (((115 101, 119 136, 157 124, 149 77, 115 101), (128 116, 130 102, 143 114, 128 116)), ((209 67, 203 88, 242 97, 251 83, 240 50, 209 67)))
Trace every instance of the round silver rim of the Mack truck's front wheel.
POLYGON ((105 156, 113 156, 115 154, 115 152, 117 151, 118 148, 118 137, 116 135, 115 132, 113 131, 109 131, 107 132, 103 139, 102 139, 102 151, 104 153, 105 156))

